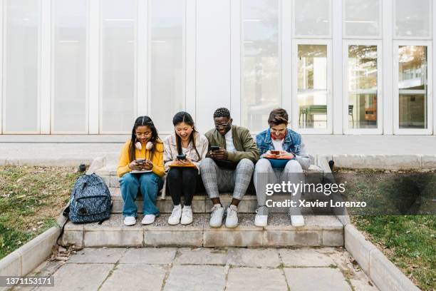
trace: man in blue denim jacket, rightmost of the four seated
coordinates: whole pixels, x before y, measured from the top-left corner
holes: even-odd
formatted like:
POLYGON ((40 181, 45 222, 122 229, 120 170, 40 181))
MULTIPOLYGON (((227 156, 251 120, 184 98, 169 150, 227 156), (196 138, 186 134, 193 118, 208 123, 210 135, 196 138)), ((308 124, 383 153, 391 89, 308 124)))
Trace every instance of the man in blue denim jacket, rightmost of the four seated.
MULTIPOLYGON (((256 226, 266 226, 268 224, 268 208, 266 207, 266 184, 281 183, 290 181, 291 183, 304 182, 303 169, 308 169, 311 160, 306 151, 301 135, 287 128, 288 113, 282 108, 276 108, 269 114, 269 128, 256 136, 257 148, 261 154, 261 159, 254 168, 254 187, 256 188, 257 203, 259 208, 256 210, 254 224, 256 226), (280 150, 281 154, 290 155, 289 162, 284 168, 273 168, 271 162, 264 158, 264 155, 271 150, 280 150)), ((301 191, 293 193, 291 200, 296 201, 301 198, 301 191)), ((291 223, 295 226, 304 225, 304 218, 299 208, 290 208, 289 215, 291 223)))

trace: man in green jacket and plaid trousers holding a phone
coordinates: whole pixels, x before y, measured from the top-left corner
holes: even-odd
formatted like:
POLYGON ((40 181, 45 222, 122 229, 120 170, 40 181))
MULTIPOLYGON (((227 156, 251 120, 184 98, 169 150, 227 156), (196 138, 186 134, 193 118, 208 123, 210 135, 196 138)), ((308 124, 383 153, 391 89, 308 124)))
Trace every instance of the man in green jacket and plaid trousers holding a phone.
POLYGON ((249 186, 254 163, 259 160, 259 150, 249 130, 232 125, 232 121, 229 109, 218 108, 214 112, 215 128, 205 134, 209 151, 200 169, 204 188, 214 204, 209 221, 212 228, 219 228, 224 216, 219 192, 230 191, 233 196, 227 208, 226 227, 237 227, 238 205, 249 186))

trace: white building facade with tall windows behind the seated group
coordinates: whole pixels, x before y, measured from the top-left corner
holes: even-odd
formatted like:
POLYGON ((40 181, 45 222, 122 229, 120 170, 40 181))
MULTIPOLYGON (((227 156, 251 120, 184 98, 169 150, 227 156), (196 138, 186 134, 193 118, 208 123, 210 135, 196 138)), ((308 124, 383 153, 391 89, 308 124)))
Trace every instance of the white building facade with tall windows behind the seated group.
POLYGON ((0 0, 0 133, 435 135, 432 0, 0 0))

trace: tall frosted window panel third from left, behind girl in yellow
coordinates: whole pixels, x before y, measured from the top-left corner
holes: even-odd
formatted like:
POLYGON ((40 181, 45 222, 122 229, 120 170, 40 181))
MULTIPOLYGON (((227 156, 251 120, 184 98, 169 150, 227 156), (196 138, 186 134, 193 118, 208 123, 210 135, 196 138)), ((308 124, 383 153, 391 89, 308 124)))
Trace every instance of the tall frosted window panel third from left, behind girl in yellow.
POLYGON ((135 0, 103 1, 101 130, 130 132, 135 121, 135 0))

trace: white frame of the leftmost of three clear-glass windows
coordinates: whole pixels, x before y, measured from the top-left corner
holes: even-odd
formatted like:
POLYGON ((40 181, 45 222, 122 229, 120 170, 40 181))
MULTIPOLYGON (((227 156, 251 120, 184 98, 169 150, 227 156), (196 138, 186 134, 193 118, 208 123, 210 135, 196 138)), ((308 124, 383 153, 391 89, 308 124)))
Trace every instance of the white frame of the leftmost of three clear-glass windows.
POLYGON ((302 134, 333 134, 333 42, 331 39, 296 39, 293 41, 292 53, 292 123, 291 128, 302 134), (299 128, 299 103, 298 103, 298 53, 299 45, 325 45, 327 47, 327 127, 299 128))

